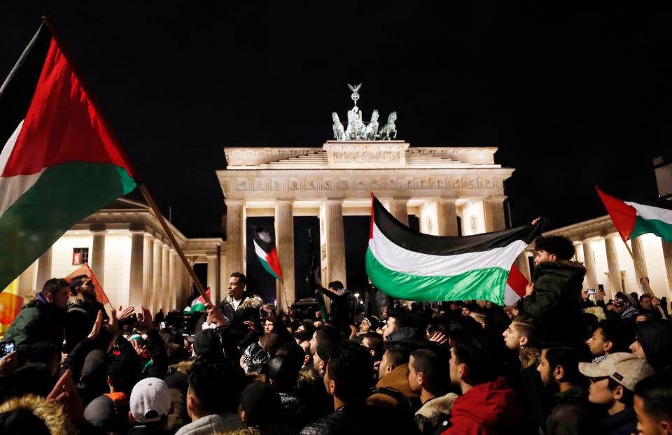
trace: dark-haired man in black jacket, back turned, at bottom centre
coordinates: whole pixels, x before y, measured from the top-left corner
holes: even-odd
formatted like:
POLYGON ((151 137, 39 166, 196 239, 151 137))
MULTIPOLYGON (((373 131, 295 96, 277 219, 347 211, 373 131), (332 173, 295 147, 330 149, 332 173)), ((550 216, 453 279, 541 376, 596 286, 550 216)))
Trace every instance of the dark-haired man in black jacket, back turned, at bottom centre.
POLYGON ((327 392, 334 398, 335 412, 311 422, 300 434, 419 434, 410 415, 365 404, 372 378, 373 359, 367 348, 352 342, 339 345, 324 376, 327 392))

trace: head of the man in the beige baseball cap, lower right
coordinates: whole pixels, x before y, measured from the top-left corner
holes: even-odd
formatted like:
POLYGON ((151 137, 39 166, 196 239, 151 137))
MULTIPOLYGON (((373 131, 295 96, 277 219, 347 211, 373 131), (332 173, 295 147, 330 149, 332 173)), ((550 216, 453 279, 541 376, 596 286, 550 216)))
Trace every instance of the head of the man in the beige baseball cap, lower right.
POLYGON ((616 352, 600 363, 580 362, 579 371, 590 380, 588 400, 608 409, 617 402, 632 408, 635 385, 654 373, 643 359, 627 352, 616 352))

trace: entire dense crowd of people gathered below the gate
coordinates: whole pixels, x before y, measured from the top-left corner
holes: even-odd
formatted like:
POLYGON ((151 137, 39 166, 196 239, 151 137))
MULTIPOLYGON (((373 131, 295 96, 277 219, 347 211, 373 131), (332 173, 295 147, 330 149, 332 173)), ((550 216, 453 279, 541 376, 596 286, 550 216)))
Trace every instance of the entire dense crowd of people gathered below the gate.
MULTIPOLYGON (((3 434, 672 434, 672 322, 652 294, 582 290, 559 236, 526 296, 276 311, 233 273, 184 318, 106 312, 54 278, 3 337, 3 434)), ((381 301, 380 295, 372 297, 381 301)))

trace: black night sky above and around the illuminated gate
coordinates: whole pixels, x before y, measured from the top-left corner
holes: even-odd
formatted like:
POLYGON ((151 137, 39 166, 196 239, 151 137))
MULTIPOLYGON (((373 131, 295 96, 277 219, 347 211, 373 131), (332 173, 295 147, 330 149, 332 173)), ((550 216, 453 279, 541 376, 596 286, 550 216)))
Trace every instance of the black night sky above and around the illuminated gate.
POLYGON ((498 147, 514 224, 603 215, 595 185, 653 199, 671 150, 672 16, 645 3, 3 3, 0 76, 47 15, 187 236, 222 235, 223 148, 321 146, 347 83, 414 146, 498 147))

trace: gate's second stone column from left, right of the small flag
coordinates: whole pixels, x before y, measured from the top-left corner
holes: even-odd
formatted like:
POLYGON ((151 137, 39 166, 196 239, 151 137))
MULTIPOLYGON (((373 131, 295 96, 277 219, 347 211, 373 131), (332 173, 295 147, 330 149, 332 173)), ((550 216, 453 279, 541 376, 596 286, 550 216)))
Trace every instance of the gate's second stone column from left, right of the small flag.
POLYGON ((281 308, 294 303, 294 213, 293 201, 275 202, 275 238, 282 269, 282 283, 276 283, 276 297, 281 308))

